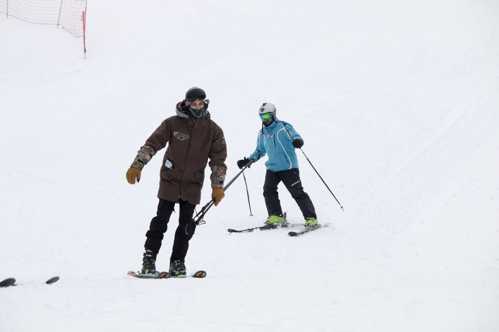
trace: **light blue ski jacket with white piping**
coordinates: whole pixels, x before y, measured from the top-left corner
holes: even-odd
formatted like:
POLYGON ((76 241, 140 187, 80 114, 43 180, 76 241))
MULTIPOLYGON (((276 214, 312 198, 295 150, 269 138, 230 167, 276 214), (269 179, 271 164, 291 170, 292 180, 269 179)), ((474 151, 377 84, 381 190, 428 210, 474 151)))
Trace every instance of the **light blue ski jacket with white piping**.
POLYGON ((256 162, 267 154, 268 160, 265 162, 265 166, 273 172, 298 168, 298 159, 292 144, 295 138, 303 141, 292 125, 275 118, 268 127, 263 127, 258 132, 256 149, 248 158, 254 158, 256 162))

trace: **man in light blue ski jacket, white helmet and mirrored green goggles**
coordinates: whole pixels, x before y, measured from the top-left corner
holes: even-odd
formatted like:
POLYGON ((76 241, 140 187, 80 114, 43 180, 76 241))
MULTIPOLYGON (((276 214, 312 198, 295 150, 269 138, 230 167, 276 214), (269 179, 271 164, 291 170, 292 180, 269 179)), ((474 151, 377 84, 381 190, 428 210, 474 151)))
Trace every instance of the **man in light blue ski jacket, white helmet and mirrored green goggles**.
POLYGON ((268 160, 265 162, 267 167, 265 183, 263 184, 263 197, 268 212, 265 223, 284 222, 277 193, 277 185, 282 181, 291 197, 298 204, 305 219, 305 227, 316 226, 315 209, 310 197, 301 186, 298 160, 294 151, 294 149, 303 146, 303 138, 291 124, 280 121, 275 113, 275 106, 270 103, 264 103, 258 108, 262 126, 258 132, 256 149, 248 158, 238 160, 238 166, 241 169, 250 163, 250 160, 256 162, 265 154, 268 155, 268 160))

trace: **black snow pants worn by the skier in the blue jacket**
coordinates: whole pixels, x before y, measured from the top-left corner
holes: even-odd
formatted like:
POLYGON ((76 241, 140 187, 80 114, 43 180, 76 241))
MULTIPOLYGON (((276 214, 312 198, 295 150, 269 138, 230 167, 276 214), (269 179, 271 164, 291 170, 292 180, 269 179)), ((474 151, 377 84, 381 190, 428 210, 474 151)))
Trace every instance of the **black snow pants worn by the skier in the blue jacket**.
POLYGON ((300 180, 300 171, 297 168, 291 168, 285 171, 272 172, 267 170, 265 173, 265 183, 263 184, 263 197, 267 206, 268 215, 282 216, 282 209, 277 193, 277 185, 281 182, 286 186, 287 191, 294 198, 296 204, 303 214, 303 218, 312 217, 317 219, 315 208, 308 194, 303 191, 300 180))

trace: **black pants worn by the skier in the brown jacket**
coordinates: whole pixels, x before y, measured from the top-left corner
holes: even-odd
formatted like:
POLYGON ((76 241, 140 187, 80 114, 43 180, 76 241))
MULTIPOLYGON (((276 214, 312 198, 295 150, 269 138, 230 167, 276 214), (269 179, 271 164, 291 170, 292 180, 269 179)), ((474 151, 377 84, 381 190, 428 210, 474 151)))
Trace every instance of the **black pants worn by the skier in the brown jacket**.
MULTIPOLYGON (((194 235, 194 230, 196 229, 196 224, 192 222, 192 216, 194 215, 194 208, 196 206, 182 200, 179 201, 179 205, 179 225, 175 231, 170 263, 176 260, 185 262, 187 250, 189 249, 189 240, 194 235)), ((168 221, 170 221, 170 216, 173 211, 175 211, 174 202, 159 199, 158 212, 149 225, 144 248, 149 249, 156 254, 159 252, 163 235, 168 228, 168 221)))

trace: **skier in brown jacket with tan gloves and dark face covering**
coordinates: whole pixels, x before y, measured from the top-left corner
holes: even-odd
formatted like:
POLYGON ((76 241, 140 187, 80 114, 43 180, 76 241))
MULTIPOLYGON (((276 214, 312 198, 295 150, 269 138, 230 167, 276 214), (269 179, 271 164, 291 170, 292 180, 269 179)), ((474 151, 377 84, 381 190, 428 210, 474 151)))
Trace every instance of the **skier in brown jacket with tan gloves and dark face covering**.
POLYGON ((164 120, 153 132, 126 173, 128 183, 139 182, 144 165, 168 143, 160 172, 158 212, 146 233, 141 273, 159 274, 156 257, 175 203, 178 203, 179 225, 175 231, 169 272, 174 276, 187 275, 185 257, 196 228, 192 217, 195 206, 201 202, 208 158, 215 206, 225 196, 227 145, 224 132, 207 111, 209 102, 204 90, 198 87, 189 89, 185 100, 177 104, 177 115, 164 120))

